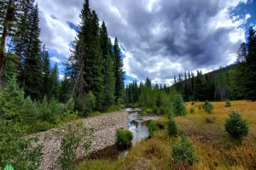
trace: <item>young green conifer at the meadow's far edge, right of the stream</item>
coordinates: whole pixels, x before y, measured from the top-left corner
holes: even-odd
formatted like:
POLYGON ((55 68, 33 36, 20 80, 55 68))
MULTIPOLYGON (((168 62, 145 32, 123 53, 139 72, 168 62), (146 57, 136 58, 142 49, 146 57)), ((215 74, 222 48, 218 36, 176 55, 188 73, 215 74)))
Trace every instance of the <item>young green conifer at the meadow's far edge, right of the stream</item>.
POLYGON ((172 107, 175 116, 184 116, 188 113, 181 94, 175 95, 172 102, 172 107))

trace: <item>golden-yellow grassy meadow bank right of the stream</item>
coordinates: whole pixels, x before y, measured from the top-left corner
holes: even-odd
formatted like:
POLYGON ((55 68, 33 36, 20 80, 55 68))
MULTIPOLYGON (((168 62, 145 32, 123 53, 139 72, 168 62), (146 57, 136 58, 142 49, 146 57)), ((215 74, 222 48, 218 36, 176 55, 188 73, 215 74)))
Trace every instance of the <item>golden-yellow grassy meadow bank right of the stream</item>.
MULTIPOLYGON (((151 139, 144 140, 133 147, 128 156, 119 161, 93 160, 79 163, 77 169, 255 169, 256 165, 256 103, 233 101, 232 107, 224 107, 225 102, 213 102, 213 116, 216 120, 207 123, 209 116, 199 107, 187 103, 187 109, 194 107, 195 113, 175 117, 178 129, 183 129, 189 140, 195 144, 200 161, 189 167, 173 162, 171 147, 180 138, 170 138, 166 129, 154 132, 151 139), (230 111, 240 111, 247 119, 249 134, 241 146, 233 143, 228 133, 224 132, 224 122, 230 111)), ((166 122, 166 118, 160 120, 166 122)))

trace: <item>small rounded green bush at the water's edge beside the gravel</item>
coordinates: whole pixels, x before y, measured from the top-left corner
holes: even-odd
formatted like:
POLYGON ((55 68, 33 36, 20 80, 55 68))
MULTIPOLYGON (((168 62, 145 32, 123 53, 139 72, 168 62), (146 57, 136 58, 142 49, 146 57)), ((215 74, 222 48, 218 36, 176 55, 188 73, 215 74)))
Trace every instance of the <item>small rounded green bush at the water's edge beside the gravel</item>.
POLYGON ((131 145, 132 138, 133 138, 132 133, 129 130, 119 129, 117 131, 117 142, 119 145, 123 145, 123 146, 131 145))

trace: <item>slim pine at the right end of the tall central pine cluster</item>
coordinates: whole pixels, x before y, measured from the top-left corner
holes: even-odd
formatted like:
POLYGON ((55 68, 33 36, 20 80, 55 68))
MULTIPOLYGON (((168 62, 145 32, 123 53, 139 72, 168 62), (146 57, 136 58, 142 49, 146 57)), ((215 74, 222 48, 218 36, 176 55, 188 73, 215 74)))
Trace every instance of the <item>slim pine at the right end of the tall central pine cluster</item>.
POLYGON ((113 44, 113 54, 115 58, 115 102, 118 99, 122 99, 123 97, 123 89, 124 89, 124 71, 123 71, 123 60, 121 59, 121 52, 119 48, 119 42, 117 37, 114 39, 113 44))

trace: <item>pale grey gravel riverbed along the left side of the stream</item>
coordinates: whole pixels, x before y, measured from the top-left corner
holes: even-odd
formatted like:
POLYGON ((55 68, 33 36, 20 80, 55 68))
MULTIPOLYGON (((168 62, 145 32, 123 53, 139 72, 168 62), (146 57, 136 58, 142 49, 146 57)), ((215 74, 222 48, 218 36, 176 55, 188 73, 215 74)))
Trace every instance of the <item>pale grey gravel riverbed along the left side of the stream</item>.
MULTIPOLYGON (((85 127, 94 130, 91 152, 115 144, 116 130, 119 128, 128 129, 128 115, 125 111, 106 113, 101 116, 81 119, 77 122, 83 122, 85 127)), ((55 164, 57 157, 61 154, 61 136, 56 135, 56 131, 58 131, 57 128, 36 135, 39 139, 38 144, 44 145, 41 169, 60 169, 55 164)))

